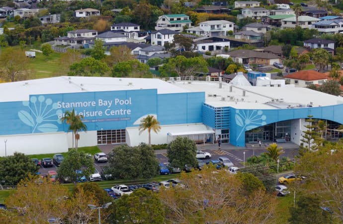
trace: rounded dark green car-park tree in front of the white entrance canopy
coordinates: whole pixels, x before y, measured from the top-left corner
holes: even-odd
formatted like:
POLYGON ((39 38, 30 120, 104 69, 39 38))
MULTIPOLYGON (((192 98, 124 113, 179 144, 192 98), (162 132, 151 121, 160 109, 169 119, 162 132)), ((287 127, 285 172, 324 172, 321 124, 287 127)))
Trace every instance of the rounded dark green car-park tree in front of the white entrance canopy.
POLYGON ((177 136, 167 148, 167 157, 172 167, 183 168, 184 165, 197 167, 195 142, 187 137, 177 136))

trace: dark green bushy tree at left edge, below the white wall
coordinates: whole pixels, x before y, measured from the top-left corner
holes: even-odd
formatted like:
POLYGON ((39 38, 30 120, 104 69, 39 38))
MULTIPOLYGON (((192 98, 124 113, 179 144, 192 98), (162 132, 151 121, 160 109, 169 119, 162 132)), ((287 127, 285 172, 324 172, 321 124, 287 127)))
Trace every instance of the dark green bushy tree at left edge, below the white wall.
POLYGON ((0 182, 1 185, 15 186, 20 180, 34 175, 39 167, 32 160, 20 152, 14 152, 12 156, 0 160, 0 182))

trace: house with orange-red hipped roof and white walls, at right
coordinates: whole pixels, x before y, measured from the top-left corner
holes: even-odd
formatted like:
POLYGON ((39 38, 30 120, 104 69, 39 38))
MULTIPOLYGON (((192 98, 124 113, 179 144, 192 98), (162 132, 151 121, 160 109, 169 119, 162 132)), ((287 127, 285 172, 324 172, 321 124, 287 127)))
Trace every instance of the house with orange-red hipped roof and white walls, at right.
POLYGON ((307 87, 308 85, 322 85, 328 80, 325 73, 313 70, 294 72, 284 76, 286 83, 294 84, 295 87, 307 87))

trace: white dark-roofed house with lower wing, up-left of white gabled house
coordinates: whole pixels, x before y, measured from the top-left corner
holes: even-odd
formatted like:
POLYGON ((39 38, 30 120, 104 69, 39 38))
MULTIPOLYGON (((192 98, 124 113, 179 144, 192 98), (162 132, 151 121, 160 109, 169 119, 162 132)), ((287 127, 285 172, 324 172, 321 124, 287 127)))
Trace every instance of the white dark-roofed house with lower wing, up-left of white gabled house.
POLYGON ((131 22, 114 23, 111 31, 126 35, 130 42, 145 42, 145 37, 148 36, 148 32, 140 31, 140 25, 131 22))

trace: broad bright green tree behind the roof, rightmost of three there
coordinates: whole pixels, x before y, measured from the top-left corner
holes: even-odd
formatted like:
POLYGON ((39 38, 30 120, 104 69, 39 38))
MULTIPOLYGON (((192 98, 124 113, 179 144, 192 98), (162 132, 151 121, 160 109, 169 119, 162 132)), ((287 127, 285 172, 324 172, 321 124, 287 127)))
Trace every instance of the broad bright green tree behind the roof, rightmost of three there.
POLYGON ((160 68, 161 74, 170 75, 175 72, 178 76, 193 76, 198 72, 208 72, 207 63, 202 57, 186 58, 176 56, 160 68))

